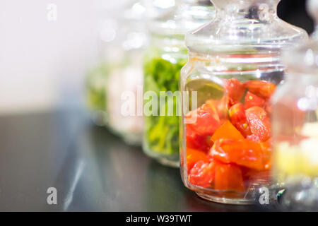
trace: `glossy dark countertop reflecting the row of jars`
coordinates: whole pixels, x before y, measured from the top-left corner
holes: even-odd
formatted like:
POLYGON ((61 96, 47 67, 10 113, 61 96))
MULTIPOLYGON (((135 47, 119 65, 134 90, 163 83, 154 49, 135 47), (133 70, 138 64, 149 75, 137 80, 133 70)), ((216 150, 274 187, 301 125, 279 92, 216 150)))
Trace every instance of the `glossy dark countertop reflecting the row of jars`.
POLYGON ((204 201, 82 111, 0 117, 0 210, 251 211, 204 201), (57 205, 47 189, 57 189, 57 205))

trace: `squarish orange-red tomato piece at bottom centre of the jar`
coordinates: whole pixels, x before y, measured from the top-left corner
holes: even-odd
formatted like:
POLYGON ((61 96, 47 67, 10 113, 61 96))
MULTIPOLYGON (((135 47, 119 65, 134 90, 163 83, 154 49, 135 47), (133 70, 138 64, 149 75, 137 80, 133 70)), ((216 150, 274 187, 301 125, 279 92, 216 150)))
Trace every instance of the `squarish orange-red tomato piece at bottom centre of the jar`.
POLYGON ((214 189, 226 191, 245 191, 242 170, 231 164, 216 162, 214 189))

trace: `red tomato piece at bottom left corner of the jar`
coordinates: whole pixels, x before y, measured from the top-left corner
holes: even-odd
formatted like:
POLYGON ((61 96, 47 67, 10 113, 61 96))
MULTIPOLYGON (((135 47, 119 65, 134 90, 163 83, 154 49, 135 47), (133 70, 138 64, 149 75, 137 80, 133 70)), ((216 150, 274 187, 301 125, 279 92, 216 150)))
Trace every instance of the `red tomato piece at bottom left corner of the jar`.
POLYGON ((196 162, 194 167, 192 167, 192 169, 190 170, 188 181, 196 186, 206 188, 208 186, 211 186, 214 176, 214 162, 207 163, 201 160, 199 162, 196 162))

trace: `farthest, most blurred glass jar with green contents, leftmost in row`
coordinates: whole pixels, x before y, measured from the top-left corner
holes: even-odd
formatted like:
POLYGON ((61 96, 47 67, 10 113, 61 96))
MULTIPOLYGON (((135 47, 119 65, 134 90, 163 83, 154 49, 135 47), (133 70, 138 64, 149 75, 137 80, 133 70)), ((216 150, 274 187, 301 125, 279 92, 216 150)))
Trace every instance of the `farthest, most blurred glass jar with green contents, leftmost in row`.
MULTIPOLYGON (((101 8, 98 11, 101 14, 100 24, 98 25, 98 48, 99 48, 99 60, 97 64, 88 71, 86 76, 86 103, 88 110, 90 111, 90 117, 93 122, 98 126, 105 126, 107 124, 107 102, 106 102, 106 86, 107 76, 110 73, 110 67, 107 62, 107 47, 109 43, 118 40, 117 34, 119 32, 119 16, 122 15, 122 11, 126 8, 126 5, 131 0, 121 1, 120 4, 110 4, 107 6, 99 4, 101 8), (106 15, 106 16, 105 16, 106 15)), ((120 52, 120 42, 116 42, 112 47, 116 47, 114 53, 120 52)), ((118 56, 118 54, 116 54, 118 56)), ((116 57, 115 57, 116 58, 116 57)), ((120 57, 118 57, 120 58, 120 57)))

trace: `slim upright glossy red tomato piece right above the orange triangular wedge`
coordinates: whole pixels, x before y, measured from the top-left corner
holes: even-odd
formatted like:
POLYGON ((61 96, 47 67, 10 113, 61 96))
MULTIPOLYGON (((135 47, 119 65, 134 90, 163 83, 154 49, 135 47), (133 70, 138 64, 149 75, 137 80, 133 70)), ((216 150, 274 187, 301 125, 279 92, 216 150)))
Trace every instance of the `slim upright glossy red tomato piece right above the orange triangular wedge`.
POLYGON ((241 103, 233 105, 229 110, 229 115, 231 123, 243 136, 247 137, 252 134, 245 115, 244 105, 241 103))

